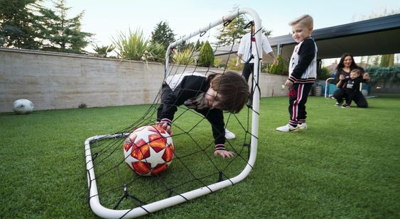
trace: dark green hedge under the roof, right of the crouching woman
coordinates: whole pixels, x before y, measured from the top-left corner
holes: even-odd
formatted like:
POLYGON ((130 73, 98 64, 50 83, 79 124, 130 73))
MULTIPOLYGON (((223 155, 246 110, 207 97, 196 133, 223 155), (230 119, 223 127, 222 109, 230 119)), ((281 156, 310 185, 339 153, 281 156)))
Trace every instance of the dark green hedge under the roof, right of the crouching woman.
POLYGON ((370 84, 375 84, 377 81, 387 81, 391 84, 400 84, 400 67, 377 67, 372 66, 365 69, 369 73, 371 80, 370 84))

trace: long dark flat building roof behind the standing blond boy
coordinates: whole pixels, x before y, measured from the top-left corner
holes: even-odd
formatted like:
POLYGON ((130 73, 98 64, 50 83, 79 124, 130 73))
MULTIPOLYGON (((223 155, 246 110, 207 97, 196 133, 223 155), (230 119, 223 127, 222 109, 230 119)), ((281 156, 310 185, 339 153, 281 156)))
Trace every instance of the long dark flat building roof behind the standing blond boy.
MULTIPOLYGON (((344 52, 354 56, 399 53, 400 13, 314 30, 313 38, 318 46, 318 59, 340 57, 344 52)), ((269 38, 269 43, 274 52, 280 45, 281 55, 286 60, 291 57, 296 45, 291 34, 269 38)), ((229 52, 231 47, 221 47, 215 55, 226 59, 227 54, 237 52, 239 45, 233 45, 232 52, 229 52)), ((272 62, 265 52, 263 60, 266 63, 272 62)))

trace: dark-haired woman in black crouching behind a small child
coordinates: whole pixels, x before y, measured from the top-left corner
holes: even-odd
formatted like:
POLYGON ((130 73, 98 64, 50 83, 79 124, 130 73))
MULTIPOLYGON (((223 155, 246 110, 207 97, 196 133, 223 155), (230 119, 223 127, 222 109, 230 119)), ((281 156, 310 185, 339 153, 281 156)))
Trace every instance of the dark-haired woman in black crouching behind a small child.
MULTIPOLYGON (((350 79, 350 72, 352 69, 360 69, 360 77, 366 81, 369 80, 369 74, 364 71, 362 67, 359 67, 357 64, 355 64, 354 58, 350 53, 344 53, 342 57, 340 57, 340 62, 337 64, 336 67, 336 76, 335 76, 335 82, 338 85, 335 93, 333 93, 333 97, 336 99, 336 106, 342 106, 343 99, 347 99, 347 93, 345 91, 347 81, 350 79), (339 82, 342 82, 338 84, 339 82)), ((357 104, 357 107, 361 108, 367 108, 368 107, 368 102, 364 98, 361 92, 355 94, 353 97, 353 101, 355 101, 355 104, 357 104)))

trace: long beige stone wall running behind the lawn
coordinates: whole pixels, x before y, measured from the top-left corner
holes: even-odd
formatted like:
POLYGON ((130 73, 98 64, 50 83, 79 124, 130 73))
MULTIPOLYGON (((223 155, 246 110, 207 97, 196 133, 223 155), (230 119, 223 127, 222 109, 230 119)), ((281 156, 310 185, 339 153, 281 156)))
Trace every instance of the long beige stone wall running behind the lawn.
MULTIPOLYGON (((16 99, 31 100, 35 110, 153 103, 163 75, 160 63, 0 48, 0 113, 12 111, 16 99)), ((285 96, 286 78, 261 74, 261 97, 285 96)))

